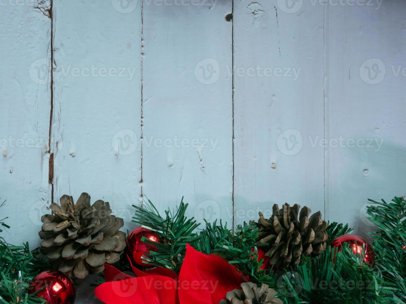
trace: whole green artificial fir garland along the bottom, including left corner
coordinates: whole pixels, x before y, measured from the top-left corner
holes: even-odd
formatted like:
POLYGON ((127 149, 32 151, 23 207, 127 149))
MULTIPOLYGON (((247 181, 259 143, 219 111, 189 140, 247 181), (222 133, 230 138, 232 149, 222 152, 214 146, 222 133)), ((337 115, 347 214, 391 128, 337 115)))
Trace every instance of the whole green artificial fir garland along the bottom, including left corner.
MULTIPOLYGON (((383 200, 370 201, 371 206, 367 213, 369 220, 377 227, 377 231, 371 233, 375 253, 373 265, 366 263, 362 255, 354 254, 349 245, 344 245, 343 248, 330 247, 336 237, 352 232, 348 225, 339 223, 331 223, 326 227, 327 247, 320 255, 302 255, 298 265, 289 265, 282 269, 276 267, 276 263, 265 265, 261 248, 267 248, 268 244, 258 242, 260 227, 257 224, 244 223, 235 227, 234 231, 221 221, 205 222, 205 227, 201 227, 194 218, 185 216, 188 204, 183 199, 176 211, 166 210, 164 216, 159 214, 150 201, 142 207, 134 206, 133 221, 155 231, 162 240, 162 243, 155 243, 142 239, 157 248, 145 256, 147 265, 156 266, 157 270, 166 269, 177 276, 184 264, 188 244, 196 253, 214 254, 233 265, 241 280, 249 282, 244 285, 247 294, 244 289, 242 292, 238 291, 235 294, 238 299, 234 298, 233 301, 247 300, 248 295, 253 303, 278 303, 279 300, 284 304, 406 303, 406 201, 404 197, 395 197, 391 203, 383 200), (254 298, 246 287, 254 286, 253 284, 263 287, 252 288, 254 298), (269 301, 263 293, 268 289, 272 295, 272 300, 269 297, 269 301)), ((0 232, 3 231, 1 227, 9 228, 3 223, 4 219, 0 221, 0 232)), ((1 236, 0 250, 0 302, 43 302, 26 292, 29 280, 42 270, 49 269, 46 261, 38 258, 38 250, 31 251, 28 244, 12 246, 1 236)), ((212 258, 207 259, 211 260, 212 258)), ((121 271, 131 267, 124 255, 115 265, 121 271)), ((187 267, 190 265, 189 261, 187 267)), ((111 266, 109 267, 111 270, 111 266)), ((196 269, 196 274, 204 274, 204 268, 196 269)), ((147 274, 133 269, 137 276, 147 274)), ((226 293, 227 291, 224 299, 226 293)), ((230 293, 229 295, 231 296, 230 293)), ((115 301, 119 303, 120 299, 115 301)))

